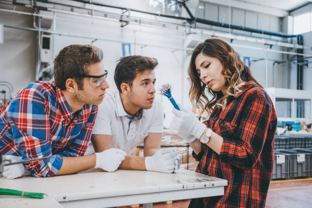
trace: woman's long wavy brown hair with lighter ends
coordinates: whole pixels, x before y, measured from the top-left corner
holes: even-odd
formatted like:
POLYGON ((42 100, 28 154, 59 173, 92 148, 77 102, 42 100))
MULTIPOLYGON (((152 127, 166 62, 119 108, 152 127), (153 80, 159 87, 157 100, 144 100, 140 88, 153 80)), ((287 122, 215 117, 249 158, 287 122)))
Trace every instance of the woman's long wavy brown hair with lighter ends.
POLYGON ((201 113, 206 111, 211 113, 215 105, 224 108, 227 99, 231 95, 240 92, 240 88, 248 81, 254 81, 258 86, 262 87, 251 75, 251 71, 240 59, 239 54, 225 41, 220 39, 206 39, 203 43, 197 45, 192 53, 188 73, 191 79, 191 89, 189 97, 193 107, 200 107, 201 113), (223 69, 221 74, 225 77, 226 92, 216 92, 211 88, 207 91, 212 95, 212 99, 205 94, 206 85, 200 80, 195 66, 196 57, 202 53, 203 55, 217 58, 223 69))

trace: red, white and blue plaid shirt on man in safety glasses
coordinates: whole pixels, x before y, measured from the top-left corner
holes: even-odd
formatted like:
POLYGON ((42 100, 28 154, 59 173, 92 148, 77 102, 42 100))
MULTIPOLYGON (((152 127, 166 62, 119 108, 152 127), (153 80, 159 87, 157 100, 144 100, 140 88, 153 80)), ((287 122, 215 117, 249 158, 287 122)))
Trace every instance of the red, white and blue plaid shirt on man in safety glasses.
POLYGON ((48 82, 32 82, 0 109, 0 153, 31 162, 33 176, 55 175, 62 157, 84 155, 97 114, 97 106, 84 105, 73 114, 62 91, 48 82))

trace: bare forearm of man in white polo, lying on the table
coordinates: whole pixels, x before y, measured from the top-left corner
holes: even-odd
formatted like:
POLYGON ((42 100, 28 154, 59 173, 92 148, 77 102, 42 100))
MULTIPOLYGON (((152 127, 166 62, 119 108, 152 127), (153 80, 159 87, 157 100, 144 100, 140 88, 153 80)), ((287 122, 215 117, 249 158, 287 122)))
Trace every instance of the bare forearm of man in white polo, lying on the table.
POLYGON ((126 155, 124 161, 121 162, 119 169, 146 170, 145 158, 128 154, 126 155))

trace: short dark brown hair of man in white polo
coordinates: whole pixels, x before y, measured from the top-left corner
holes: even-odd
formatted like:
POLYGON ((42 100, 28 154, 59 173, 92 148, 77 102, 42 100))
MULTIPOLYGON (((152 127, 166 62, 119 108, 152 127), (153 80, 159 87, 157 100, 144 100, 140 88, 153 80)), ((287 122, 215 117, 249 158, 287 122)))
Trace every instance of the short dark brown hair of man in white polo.
POLYGON ((143 56, 127 56, 118 61, 114 80, 120 93, 122 83, 126 83, 132 88, 132 82, 139 72, 153 70, 158 65, 157 59, 143 56))

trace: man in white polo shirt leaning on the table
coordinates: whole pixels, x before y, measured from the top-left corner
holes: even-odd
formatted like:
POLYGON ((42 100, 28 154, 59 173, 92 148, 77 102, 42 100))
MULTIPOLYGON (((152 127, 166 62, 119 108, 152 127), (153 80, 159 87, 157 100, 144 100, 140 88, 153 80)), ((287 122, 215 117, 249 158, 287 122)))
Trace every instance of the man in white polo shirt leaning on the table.
POLYGON ((179 169, 181 155, 176 149, 160 148, 164 112, 161 102, 154 99, 157 65, 156 59, 142 56, 119 60, 114 75, 118 91, 106 93, 98 106, 91 138, 94 148, 90 144, 86 154, 120 148, 127 153, 120 169, 166 173, 179 169), (142 142, 144 157, 131 155, 142 142))

